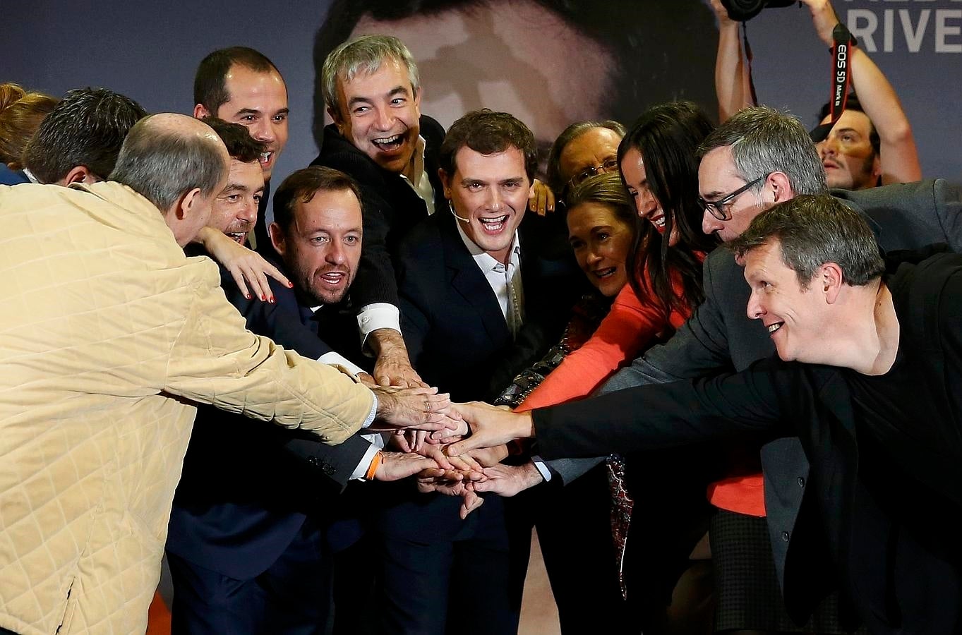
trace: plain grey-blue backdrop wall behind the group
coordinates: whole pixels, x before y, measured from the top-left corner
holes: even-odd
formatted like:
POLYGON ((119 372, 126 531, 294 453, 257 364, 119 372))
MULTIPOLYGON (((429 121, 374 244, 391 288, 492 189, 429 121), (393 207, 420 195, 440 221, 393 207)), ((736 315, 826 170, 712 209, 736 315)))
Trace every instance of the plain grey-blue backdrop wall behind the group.
MULTIPOLYGON (((6 2, 0 81, 54 94, 79 86, 107 86, 138 99, 152 112, 190 113, 192 77, 199 60, 215 48, 252 46, 278 65, 288 83, 291 140, 277 167, 277 174, 284 176, 316 156, 311 135, 312 50, 328 4, 328 0, 6 2)), ((924 175, 962 180, 962 0, 835 4, 898 89, 914 126, 924 175)), ((625 11, 637 6, 638 0, 623 0, 625 11)), ((531 37, 539 37, 537 29, 532 29, 531 37)), ((815 37, 807 10, 766 10, 749 22, 748 37, 760 100, 814 125, 829 90, 830 59, 815 37)), ((652 64, 671 63, 659 61, 644 46, 639 55, 649 57, 652 64)), ((685 82, 683 68, 676 77, 685 82)), ((459 113, 429 114, 446 125, 459 113)))

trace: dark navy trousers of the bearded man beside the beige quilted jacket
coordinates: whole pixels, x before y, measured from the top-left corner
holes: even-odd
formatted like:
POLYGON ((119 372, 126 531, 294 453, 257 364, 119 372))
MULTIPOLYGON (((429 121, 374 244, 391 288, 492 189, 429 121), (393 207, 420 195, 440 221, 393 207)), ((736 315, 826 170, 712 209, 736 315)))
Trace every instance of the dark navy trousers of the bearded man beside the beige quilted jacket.
POLYGON ((174 635, 323 635, 327 628, 333 557, 310 521, 281 557, 253 579, 227 577, 171 553, 167 561, 174 587, 174 635))

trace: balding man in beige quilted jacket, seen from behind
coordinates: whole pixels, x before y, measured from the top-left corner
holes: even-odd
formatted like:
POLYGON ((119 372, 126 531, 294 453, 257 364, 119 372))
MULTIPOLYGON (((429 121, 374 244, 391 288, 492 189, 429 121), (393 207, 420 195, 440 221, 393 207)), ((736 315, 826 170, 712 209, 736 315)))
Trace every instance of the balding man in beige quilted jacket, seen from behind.
POLYGON ((156 114, 110 181, 0 186, 0 633, 144 631, 193 402, 332 444, 451 422, 446 395, 375 395, 244 330, 180 246, 228 162, 206 124, 156 114))

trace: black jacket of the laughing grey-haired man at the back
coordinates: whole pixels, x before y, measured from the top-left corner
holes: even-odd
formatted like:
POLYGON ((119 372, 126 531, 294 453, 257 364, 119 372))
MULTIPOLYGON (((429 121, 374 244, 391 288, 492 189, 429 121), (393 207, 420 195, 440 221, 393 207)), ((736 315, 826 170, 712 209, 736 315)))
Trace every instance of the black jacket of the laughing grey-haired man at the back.
MULTIPOLYGON (((434 188, 435 210, 447 209, 441 179, 438 177, 438 152, 444 129, 429 116, 420 118, 420 135, 424 138, 424 170, 434 188)), ((326 165, 354 177, 361 186, 364 205, 364 246, 361 266, 351 287, 354 304, 364 307, 372 302, 397 306, 392 258, 401 239, 426 218, 424 201, 400 174, 377 165, 349 140, 342 137, 333 124, 324 128, 320 154, 311 165, 326 165)))

